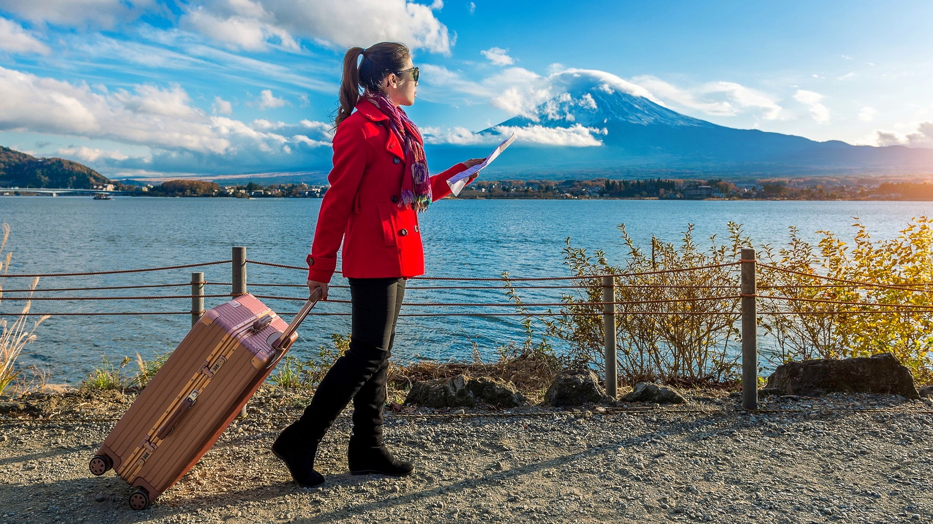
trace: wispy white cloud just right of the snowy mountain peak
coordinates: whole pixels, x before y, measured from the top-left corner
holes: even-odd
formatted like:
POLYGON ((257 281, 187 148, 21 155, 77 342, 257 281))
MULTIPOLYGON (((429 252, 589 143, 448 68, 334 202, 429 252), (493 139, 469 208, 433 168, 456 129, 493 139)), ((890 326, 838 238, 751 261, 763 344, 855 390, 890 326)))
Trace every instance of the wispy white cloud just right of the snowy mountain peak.
POLYGON ((707 82, 688 89, 677 88, 657 76, 635 76, 633 82, 665 103, 717 117, 734 117, 760 110, 765 120, 787 118, 787 113, 768 95, 735 82, 707 82))

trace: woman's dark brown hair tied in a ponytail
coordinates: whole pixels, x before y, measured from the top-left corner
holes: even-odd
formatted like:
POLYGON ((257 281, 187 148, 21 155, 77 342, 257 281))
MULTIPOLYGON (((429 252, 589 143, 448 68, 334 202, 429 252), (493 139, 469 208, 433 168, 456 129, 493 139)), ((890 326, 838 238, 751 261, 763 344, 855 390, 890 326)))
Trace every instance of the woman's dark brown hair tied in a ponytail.
POLYGON ((405 61, 411 52, 405 44, 398 42, 380 42, 369 48, 349 48, 343 55, 343 79, 341 80, 341 105, 334 117, 334 127, 353 113, 359 100, 359 89, 370 92, 382 90, 383 78, 388 73, 396 73, 405 68, 405 61), (359 61, 359 58, 363 60, 359 61), (359 65, 357 65, 359 61, 359 65))

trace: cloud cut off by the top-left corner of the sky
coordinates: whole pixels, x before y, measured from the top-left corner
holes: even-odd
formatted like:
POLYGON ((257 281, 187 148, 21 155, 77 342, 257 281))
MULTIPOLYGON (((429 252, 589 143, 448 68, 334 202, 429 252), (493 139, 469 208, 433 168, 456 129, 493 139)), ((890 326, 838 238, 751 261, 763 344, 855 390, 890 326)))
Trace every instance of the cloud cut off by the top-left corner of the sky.
POLYGON ((33 23, 111 28, 157 8, 156 0, 0 0, 0 10, 33 23))

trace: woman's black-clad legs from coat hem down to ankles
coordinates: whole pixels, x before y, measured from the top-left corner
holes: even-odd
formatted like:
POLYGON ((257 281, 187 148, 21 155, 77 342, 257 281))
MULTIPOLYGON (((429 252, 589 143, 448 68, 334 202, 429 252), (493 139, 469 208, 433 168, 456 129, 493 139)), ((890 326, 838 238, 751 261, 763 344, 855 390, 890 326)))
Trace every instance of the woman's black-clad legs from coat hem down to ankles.
POLYGON ((307 438, 320 440, 353 399, 352 441, 380 446, 385 382, 405 279, 349 280, 353 305, 350 348, 327 371, 296 425, 307 438))

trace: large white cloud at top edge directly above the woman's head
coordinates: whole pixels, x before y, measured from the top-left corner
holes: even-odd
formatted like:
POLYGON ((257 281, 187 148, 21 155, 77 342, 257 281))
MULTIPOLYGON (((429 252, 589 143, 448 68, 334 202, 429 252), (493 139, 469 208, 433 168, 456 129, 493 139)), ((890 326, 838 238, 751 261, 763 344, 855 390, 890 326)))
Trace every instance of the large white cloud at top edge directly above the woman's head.
POLYGON ((441 7, 440 0, 206 0, 188 7, 181 25, 247 50, 298 48, 296 38, 332 48, 394 40, 449 55, 454 38, 434 14, 441 7))

